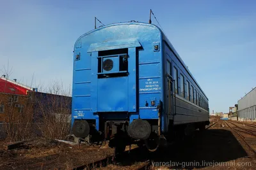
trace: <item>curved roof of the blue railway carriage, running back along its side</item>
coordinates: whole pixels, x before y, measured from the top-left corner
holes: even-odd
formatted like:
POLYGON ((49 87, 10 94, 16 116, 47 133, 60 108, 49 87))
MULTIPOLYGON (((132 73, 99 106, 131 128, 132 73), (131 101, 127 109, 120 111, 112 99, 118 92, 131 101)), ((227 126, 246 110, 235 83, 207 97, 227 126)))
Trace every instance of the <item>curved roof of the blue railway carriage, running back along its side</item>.
MULTIPOLYGON (((104 27, 109 27, 112 25, 122 25, 122 24, 138 24, 138 25, 148 25, 148 26, 153 26, 156 27, 157 29, 159 29, 159 31, 161 31, 161 34, 163 35, 163 40, 166 41, 167 45, 170 46, 170 48, 172 49, 173 53, 175 54, 175 56, 177 57, 177 59, 180 61, 180 63, 182 64, 182 66, 184 66, 184 68, 186 69, 186 71, 188 72, 188 74, 191 76, 191 78, 195 81, 196 85, 198 86, 198 88, 202 91, 202 93, 204 94, 204 96, 206 97, 207 100, 208 97, 205 95, 204 90, 202 90, 202 88, 200 87, 199 83, 196 81, 195 77, 193 76, 193 74, 189 71, 188 67, 186 66, 185 62, 181 59, 179 53, 175 50, 175 48, 173 47, 172 43, 170 43, 169 39, 167 38, 167 36, 164 34, 164 32, 157 26, 154 24, 149 24, 146 22, 118 22, 118 23, 113 23, 113 24, 108 24, 108 25, 104 25, 104 26, 100 26, 96 29, 93 29, 91 31, 88 31, 86 33, 84 33, 83 35, 81 35, 79 38, 77 38, 77 41, 79 41, 79 39, 83 38, 84 36, 91 34, 92 32, 95 32, 99 29, 103 29, 104 27)), ((76 41, 76 43, 77 43, 76 41)), ((76 44, 75 43, 75 44, 76 44)), ((75 48, 75 46, 74 46, 75 48)))

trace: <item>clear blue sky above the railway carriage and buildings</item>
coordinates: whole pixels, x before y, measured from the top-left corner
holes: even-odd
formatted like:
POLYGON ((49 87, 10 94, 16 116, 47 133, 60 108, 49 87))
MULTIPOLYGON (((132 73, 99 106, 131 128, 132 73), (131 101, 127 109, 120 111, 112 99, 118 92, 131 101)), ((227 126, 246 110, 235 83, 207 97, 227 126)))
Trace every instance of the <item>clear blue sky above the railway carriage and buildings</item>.
POLYGON ((94 17, 105 25, 148 22, 150 9, 204 90, 210 113, 227 113, 256 86, 256 1, 0 0, 0 73, 32 87, 61 82, 68 89, 74 43, 94 29, 94 17))

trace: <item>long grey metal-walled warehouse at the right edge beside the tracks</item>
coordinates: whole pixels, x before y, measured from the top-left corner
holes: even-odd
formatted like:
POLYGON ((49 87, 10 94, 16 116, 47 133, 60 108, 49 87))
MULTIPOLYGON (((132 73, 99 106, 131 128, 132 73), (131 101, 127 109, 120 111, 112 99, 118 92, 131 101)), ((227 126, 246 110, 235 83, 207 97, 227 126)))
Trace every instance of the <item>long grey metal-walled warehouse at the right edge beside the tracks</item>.
POLYGON ((256 87, 238 101, 238 117, 256 120, 256 87))

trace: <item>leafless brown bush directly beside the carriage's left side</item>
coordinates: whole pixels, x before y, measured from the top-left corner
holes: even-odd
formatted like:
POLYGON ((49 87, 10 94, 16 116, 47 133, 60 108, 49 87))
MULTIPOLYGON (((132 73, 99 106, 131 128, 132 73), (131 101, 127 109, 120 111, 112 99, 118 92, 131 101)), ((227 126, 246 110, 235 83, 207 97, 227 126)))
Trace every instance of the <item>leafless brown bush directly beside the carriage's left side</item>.
MULTIPOLYGON (((70 90, 69 90, 70 91, 70 90)), ((72 98, 63 83, 53 81, 48 93, 34 93, 36 124, 46 139, 65 139, 70 132, 72 98)))

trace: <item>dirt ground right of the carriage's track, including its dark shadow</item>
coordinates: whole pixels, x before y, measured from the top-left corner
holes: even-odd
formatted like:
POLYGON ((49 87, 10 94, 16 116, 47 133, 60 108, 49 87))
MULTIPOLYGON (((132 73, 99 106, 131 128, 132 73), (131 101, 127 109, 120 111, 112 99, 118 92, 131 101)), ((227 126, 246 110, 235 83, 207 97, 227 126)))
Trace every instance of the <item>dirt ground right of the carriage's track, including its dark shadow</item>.
MULTIPOLYGON (((131 153, 120 165, 104 169, 132 169, 152 160, 152 169, 256 169, 256 159, 244 143, 221 120, 204 132, 157 152, 131 153)), ((256 140, 256 139, 255 139, 256 140)), ((102 168, 100 168, 102 169, 102 168)))

